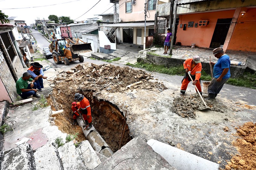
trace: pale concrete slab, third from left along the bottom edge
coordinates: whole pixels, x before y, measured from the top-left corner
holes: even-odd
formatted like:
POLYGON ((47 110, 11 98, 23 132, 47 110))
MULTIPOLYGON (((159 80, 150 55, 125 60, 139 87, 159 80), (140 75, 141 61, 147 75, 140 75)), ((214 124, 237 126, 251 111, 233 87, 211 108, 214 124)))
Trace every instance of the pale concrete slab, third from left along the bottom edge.
POLYGON ((60 146, 57 151, 60 155, 63 170, 87 170, 87 167, 80 158, 73 141, 60 146))

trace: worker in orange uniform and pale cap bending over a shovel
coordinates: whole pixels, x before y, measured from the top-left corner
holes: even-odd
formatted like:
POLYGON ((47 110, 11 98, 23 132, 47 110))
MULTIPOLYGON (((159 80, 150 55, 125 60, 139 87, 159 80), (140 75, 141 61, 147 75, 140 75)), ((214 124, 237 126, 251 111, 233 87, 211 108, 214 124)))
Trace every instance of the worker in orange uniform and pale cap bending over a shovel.
POLYGON ((193 79, 193 85, 196 85, 200 94, 202 94, 201 89, 201 71, 202 71, 202 64, 200 61, 200 56, 195 55, 193 58, 188 58, 183 63, 184 69, 186 70, 185 76, 182 79, 181 88, 180 88, 180 95, 184 95, 187 89, 188 83, 191 81, 190 77, 188 76, 188 72, 190 71, 191 78, 193 79))

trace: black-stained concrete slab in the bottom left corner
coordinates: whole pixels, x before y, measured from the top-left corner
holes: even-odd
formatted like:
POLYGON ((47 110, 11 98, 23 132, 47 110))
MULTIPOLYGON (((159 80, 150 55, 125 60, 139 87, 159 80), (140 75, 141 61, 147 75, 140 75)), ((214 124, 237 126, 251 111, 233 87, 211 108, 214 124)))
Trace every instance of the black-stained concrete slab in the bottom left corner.
POLYGON ((36 170, 33 150, 28 143, 5 151, 1 158, 1 169, 36 170))

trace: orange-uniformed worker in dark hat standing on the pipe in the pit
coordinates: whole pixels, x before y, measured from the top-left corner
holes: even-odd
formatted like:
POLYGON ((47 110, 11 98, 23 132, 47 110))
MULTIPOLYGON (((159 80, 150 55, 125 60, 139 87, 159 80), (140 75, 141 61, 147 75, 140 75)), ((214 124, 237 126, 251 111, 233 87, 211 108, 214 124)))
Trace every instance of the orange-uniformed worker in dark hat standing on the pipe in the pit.
POLYGON ((82 94, 76 93, 75 94, 75 100, 79 101, 80 106, 78 107, 77 111, 82 111, 83 118, 85 120, 85 123, 89 123, 86 125, 86 129, 92 128, 92 115, 91 115, 91 107, 89 100, 86 99, 82 94))

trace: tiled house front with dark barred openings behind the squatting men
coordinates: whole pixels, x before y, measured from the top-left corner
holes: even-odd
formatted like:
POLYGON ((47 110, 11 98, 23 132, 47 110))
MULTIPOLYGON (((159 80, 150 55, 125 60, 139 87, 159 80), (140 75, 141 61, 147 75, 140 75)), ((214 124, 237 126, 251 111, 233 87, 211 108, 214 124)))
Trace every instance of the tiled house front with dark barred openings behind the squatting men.
POLYGON ((13 26, 0 23, 0 101, 14 102, 18 96, 16 81, 23 74, 24 61, 12 34, 13 26))

